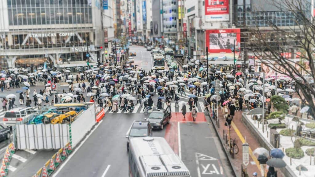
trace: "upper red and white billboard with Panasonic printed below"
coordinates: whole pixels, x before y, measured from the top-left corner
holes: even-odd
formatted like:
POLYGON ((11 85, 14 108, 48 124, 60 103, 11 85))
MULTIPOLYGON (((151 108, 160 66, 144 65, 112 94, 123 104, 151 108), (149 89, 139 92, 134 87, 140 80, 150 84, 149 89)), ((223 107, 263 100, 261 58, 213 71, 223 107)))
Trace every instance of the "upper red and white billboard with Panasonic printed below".
POLYGON ((229 21, 229 0, 205 0, 205 21, 229 21))

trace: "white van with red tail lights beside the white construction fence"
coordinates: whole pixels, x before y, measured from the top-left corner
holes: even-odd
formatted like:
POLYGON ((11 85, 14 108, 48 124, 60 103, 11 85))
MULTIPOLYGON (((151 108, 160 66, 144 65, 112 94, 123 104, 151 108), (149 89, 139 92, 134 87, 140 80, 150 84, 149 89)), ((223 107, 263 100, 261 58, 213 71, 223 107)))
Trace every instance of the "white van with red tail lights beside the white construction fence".
POLYGON ((31 114, 35 113, 36 111, 31 107, 26 108, 13 108, 10 111, 7 111, 3 117, 3 124, 5 126, 13 126, 17 122, 22 121, 31 116, 31 114))

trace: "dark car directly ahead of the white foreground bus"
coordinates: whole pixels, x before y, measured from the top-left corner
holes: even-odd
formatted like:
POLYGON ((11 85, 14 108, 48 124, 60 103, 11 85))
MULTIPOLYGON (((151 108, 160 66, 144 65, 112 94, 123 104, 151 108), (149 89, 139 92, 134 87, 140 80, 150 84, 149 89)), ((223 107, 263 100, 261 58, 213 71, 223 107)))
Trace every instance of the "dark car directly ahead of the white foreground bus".
POLYGON ((136 137, 152 136, 152 128, 149 121, 134 121, 127 134, 127 151, 129 151, 129 140, 136 137))

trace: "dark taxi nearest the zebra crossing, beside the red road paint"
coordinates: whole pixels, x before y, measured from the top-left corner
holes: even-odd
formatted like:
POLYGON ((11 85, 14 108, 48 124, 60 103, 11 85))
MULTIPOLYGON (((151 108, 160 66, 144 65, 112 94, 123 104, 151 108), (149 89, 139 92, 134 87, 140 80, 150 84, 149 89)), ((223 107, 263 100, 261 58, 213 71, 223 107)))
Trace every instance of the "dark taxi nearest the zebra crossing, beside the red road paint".
POLYGON ((145 118, 150 122, 152 128, 159 128, 163 130, 164 125, 169 123, 172 115, 169 109, 161 111, 152 111, 149 115, 149 118, 145 118))

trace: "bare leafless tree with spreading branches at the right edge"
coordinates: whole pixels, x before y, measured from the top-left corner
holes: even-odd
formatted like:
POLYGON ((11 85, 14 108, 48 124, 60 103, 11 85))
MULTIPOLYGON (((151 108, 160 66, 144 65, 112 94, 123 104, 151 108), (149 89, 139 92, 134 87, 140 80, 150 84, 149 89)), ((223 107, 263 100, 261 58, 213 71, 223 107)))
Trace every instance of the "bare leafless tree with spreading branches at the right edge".
MULTIPOLYGON (((295 26, 276 26, 273 19, 269 27, 247 27, 246 46, 259 61, 295 81, 295 88, 315 115, 315 23, 311 16, 311 3, 306 0, 278 0, 269 2, 280 11, 291 14, 295 26), (290 54, 290 55, 289 55, 290 54), (298 60, 296 60, 296 58, 298 60)), ((285 20, 285 19, 284 19, 285 20)))

